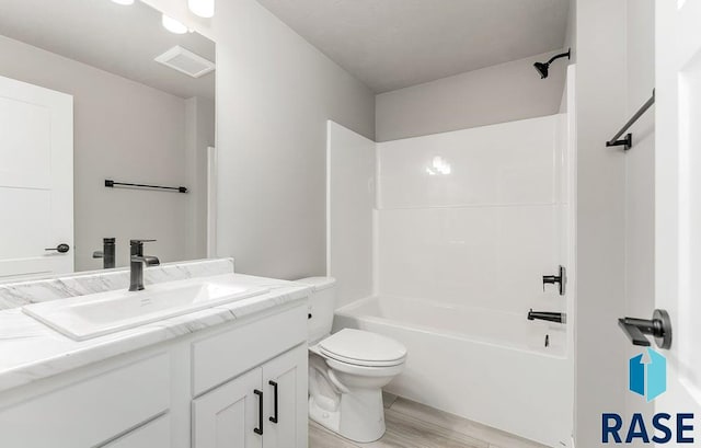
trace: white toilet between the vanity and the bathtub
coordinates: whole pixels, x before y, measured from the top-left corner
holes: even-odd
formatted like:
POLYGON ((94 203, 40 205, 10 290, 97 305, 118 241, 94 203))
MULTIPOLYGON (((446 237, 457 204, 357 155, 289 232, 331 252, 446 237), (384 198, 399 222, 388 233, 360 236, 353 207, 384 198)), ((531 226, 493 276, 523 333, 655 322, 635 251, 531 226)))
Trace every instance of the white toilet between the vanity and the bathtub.
POLYGON ((384 434, 382 387, 404 369, 406 347, 360 330, 332 335, 335 279, 297 282, 314 289, 309 301, 309 417, 354 441, 379 439, 384 434))

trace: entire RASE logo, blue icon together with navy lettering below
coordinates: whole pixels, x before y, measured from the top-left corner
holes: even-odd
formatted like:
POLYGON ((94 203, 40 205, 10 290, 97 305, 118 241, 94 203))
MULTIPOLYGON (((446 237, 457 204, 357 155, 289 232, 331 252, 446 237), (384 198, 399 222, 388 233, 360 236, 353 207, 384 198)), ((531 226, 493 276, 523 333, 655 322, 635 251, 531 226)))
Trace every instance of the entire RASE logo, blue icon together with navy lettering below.
MULTIPOLYGON (((667 390, 667 359, 652 348, 630 358, 628 363, 628 389, 647 402, 655 400, 667 390), (647 356, 645 356, 647 355, 647 356)), ((645 424, 642 414, 631 417, 628 429, 623 429, 623 418, 619 414, 601 414, 601 443, 604 444, 693 444, 693 414, 667 413, 653 415, 652 427, 645 424), (650 430, 648 430, 650 428, 650 430), (676 435, 675 435, 676 433, 676 435)))

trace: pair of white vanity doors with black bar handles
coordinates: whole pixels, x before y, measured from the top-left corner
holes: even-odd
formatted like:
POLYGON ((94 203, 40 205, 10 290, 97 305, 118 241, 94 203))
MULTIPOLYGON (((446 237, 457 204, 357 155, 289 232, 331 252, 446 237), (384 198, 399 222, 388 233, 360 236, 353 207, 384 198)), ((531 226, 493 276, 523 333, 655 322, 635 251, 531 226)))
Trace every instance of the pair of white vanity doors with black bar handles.
POLYGON ((193 448, 306 448, 307 347, 193 402, 193 448))

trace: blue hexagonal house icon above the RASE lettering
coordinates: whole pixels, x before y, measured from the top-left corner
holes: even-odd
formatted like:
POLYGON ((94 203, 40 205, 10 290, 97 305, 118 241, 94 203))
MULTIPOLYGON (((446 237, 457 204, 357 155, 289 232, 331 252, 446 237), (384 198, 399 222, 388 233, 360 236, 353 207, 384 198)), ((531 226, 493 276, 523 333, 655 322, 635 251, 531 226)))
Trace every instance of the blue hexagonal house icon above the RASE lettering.
POLYGON ((651 402, 667 390, 667 359, 652 348, 647 355, 650 360, 643 359, 644 353, 630 359, 628 388, 651 402))

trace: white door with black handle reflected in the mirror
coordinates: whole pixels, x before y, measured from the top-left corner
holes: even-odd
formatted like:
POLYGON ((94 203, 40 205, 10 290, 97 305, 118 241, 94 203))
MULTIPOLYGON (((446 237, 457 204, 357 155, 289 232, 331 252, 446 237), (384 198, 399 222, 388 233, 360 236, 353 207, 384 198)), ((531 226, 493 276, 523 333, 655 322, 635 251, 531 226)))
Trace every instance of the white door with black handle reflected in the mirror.
POLYGON ((73 271, 71 95, 0 77, 0 280, 73 271))

